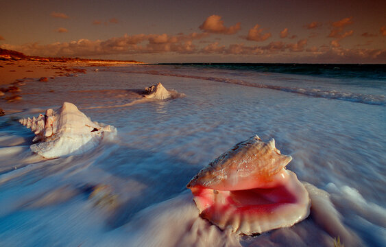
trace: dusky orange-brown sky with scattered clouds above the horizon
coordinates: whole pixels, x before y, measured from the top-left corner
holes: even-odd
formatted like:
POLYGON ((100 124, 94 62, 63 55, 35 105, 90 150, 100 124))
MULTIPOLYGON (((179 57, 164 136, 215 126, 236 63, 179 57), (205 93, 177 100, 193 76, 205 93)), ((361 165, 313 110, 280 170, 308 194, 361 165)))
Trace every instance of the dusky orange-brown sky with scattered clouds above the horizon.
POLYGON ((386 1, 1 1, 0 47, 142 62, 386 63, 386 1))

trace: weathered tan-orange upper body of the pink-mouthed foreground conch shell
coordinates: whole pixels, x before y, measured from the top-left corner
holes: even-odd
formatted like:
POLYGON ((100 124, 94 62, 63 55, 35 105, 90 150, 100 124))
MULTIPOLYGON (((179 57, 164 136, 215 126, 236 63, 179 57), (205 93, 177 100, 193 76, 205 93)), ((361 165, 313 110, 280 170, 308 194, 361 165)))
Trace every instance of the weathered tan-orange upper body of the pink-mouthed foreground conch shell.
POLYGON ((237 143, 202 169, 187 185, 217 190, 251 189, 264 185, 285 167, 292 157, 280 154, 275 140, 268 143, 255 135, 237 143))

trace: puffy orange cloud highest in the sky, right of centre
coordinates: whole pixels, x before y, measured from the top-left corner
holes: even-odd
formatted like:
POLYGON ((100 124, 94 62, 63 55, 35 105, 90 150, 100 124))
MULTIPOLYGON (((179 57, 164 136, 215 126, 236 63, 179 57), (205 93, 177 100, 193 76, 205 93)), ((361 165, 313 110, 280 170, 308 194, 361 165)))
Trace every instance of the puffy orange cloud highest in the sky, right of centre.
POLYGON ((221 16, 213 14, 206 18, 199 28, 204 32, 213 34, 235 34, 240 30, 240 23, 236 23, 231 27, 226 27, 224 21, 221 21, 221 16))

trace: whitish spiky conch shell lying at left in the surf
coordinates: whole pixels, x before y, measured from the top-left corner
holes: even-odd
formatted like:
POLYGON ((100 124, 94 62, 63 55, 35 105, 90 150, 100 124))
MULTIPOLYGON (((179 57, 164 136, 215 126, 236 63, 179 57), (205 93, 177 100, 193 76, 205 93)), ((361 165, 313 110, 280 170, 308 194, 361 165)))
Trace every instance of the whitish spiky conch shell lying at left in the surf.
POLYGON ((46 110, 45 115, 20 119, 19 122, 35 134, 32 141, 38 143, 31 145, 31 150, 45 158, 86 152, 98 145, 101 139, 117 133, 113 126, 91 121, 68 102, 57 110, 46 110))

